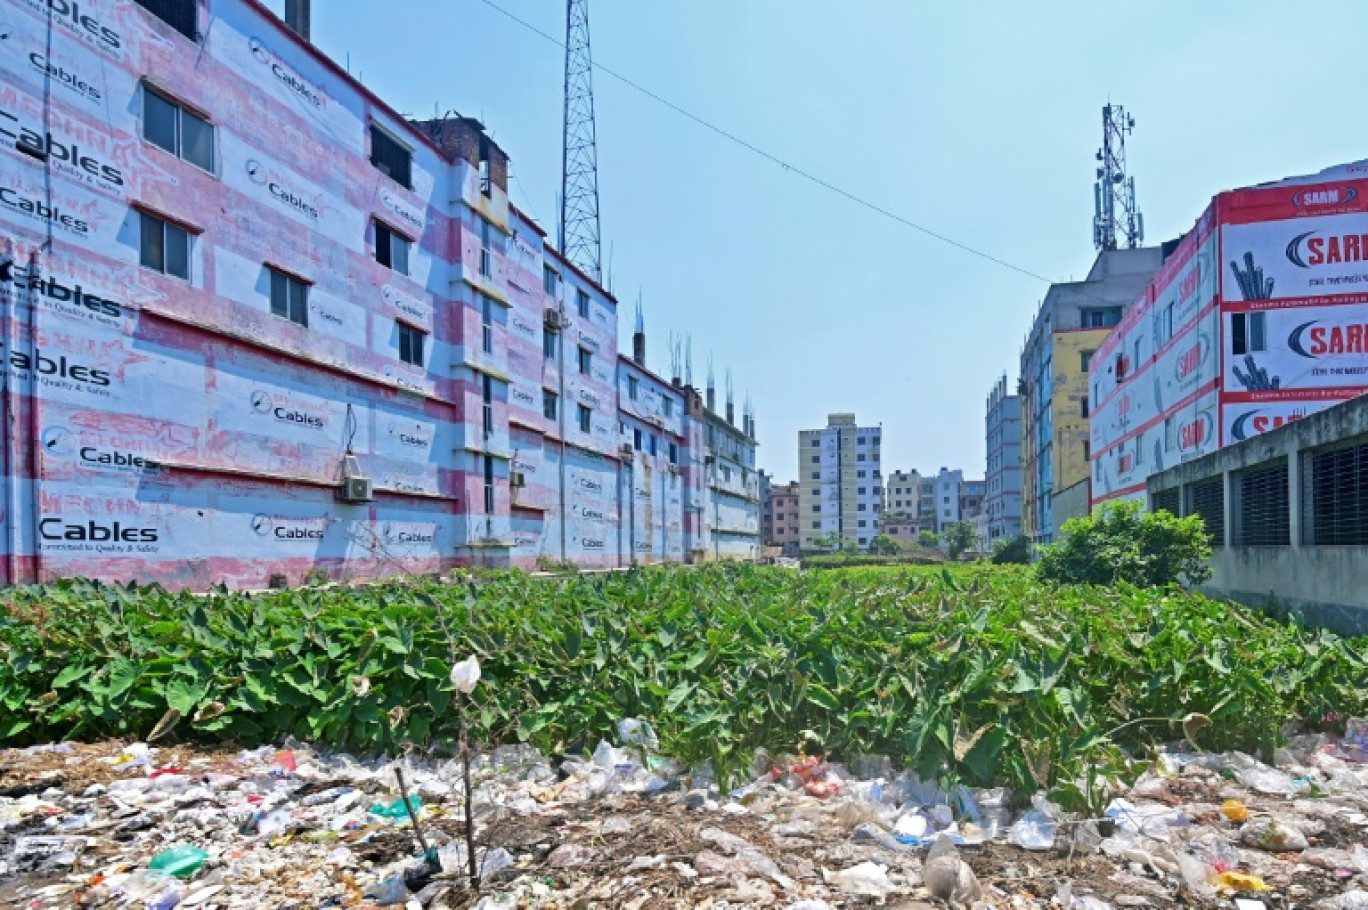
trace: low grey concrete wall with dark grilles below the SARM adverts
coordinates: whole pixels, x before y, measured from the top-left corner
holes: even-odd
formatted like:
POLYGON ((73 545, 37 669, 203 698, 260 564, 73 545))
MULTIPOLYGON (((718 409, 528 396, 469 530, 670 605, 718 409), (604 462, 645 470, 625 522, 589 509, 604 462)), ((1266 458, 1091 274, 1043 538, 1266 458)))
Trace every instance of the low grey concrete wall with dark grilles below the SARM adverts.
POLYGON ((1368 632, 1368 395, 1153 475, 1148 497, 1204 519, 1209 593, 1368 632))

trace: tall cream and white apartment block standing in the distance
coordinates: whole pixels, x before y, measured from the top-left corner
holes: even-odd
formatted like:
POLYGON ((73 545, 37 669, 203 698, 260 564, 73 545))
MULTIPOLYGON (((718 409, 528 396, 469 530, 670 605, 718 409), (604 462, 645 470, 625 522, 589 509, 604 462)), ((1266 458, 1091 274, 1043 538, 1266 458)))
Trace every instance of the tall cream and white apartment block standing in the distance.
POLYGON ((884 504, 881 427, 855 426, 855 415, 833 413, 822 430, 798 434, 802 549, 839 539, 867 547, 878 535, 884 504))

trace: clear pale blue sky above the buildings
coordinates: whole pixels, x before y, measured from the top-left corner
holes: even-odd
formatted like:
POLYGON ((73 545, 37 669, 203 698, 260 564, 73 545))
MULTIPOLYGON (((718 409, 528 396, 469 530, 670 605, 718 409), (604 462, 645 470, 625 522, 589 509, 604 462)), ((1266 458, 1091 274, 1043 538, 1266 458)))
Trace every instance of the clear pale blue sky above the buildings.
MULTIPOLYGON (((564 37, 564 0, 491 0, 564 37)), ((271 0, 274 8, 282 0, 271 0)), ((592 0, 595 62, 910 220, 1049 278, 1093 259, 1111 99, 1146 238, 1216 192, 1368 157, 1368 3, 592 0)), ((316 44, 397 109, 480 118, 510 194, 554 237, 562 51, 483 0, 316 0, 316 44)), ((605 261, 624 345, 709 352, 758 412, 759 464, 798 430, 881 423, 885 469, 984 473, 984 401, 1015 382, 1045 291, 595 74, 605 261)))

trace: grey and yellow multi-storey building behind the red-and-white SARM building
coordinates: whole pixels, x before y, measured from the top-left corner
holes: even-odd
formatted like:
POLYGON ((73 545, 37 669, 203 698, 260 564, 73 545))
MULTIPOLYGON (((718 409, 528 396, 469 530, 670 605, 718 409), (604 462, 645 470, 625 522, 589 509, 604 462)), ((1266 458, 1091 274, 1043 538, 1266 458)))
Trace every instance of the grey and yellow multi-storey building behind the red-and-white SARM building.
POLYGON ((1051 285, 1021 354, 1022 530, 1049 543, 1089 508, 1088 368, 1159 268, 1159 248, 1103 250, 1081 282, 1051 285))

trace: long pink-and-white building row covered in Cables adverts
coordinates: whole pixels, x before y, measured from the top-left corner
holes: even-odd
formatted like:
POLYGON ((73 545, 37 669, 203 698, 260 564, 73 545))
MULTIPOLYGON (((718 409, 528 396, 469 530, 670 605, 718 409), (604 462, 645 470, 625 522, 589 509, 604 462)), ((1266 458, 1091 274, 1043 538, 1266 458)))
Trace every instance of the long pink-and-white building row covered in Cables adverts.
POLYGON ((408 120, 256 0, 0 4, 0 582, 754 553, 755 497, 705 483, 754 484, 754 439, 618 357, 479 122, 408 120))

